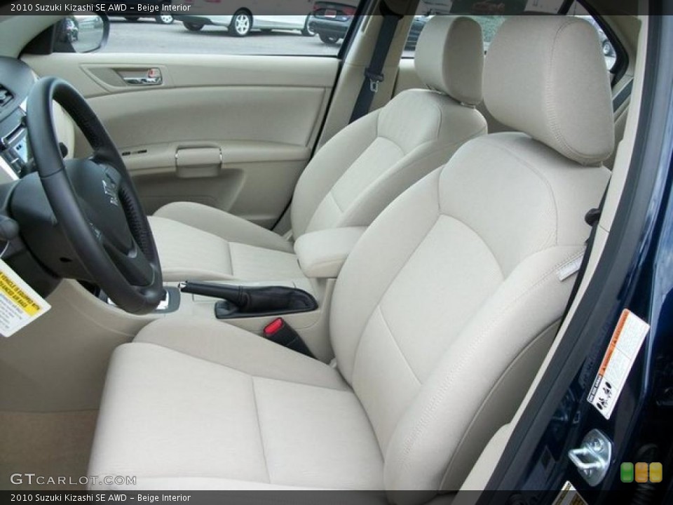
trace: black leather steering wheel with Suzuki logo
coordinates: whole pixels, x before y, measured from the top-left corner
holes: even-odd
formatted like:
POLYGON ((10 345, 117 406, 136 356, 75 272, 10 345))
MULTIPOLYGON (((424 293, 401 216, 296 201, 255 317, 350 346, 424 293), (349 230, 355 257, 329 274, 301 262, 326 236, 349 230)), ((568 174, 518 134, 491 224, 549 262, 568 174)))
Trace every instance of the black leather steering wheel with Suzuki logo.
POLYGON ((27 124, 43 191, 90 280, 125 311, 156 309, 163 281, 147 215, 121 156, 84 97, 66 81, 40 79, 28 97, 27 124), (79 126, 92 156, 64 161, 53 101, 79 126))

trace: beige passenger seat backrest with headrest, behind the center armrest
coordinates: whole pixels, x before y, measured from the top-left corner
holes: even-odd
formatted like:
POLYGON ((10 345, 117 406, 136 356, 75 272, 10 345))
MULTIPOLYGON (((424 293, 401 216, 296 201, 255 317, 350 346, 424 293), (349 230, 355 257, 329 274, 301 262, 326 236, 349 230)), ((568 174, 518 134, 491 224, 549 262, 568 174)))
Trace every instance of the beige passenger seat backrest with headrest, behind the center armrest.
POLYGON ((421 32, 415 65, 433 90, 407 90, 334 135, 299 178, 292 231, 367 226, 414 182, 442 166, 487 124, 480 25, 437 16, 421 32))

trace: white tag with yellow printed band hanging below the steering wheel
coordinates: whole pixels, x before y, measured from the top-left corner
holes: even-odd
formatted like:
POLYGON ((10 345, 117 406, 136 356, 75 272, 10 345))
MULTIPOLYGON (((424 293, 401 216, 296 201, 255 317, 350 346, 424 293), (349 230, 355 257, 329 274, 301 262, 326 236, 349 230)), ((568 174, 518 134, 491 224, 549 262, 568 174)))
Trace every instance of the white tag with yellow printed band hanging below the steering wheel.
POLYGON ((0 334, 11 337, 51 306, 0 260, 0 334))

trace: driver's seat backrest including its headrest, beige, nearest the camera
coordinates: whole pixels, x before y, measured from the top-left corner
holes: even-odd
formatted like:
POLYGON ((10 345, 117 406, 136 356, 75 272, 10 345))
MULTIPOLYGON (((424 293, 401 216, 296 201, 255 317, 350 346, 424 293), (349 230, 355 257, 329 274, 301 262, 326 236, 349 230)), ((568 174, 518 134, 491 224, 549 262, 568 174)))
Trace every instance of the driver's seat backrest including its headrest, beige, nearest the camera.
POLYGON ((405 191, 334 290, 337 365, 374 427, 388 490, 458 489, 510 420, 569 297, 584 215, 609 180, 610 89, 587 22, 507 20, 484 97, 520 132, 471 140, 405 191))

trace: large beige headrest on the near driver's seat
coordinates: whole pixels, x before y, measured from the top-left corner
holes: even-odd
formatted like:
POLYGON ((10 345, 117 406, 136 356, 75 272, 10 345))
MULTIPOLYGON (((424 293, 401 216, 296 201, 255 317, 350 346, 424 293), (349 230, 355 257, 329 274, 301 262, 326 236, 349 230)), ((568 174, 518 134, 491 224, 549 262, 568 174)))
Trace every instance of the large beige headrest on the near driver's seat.
POLYGON ((484 102, 505 125, 594 165, 614 149, 612 96, 596 29, 570 16, 515 16, 484 65, 484 102))

